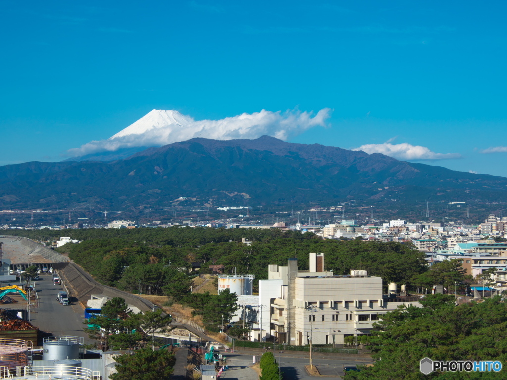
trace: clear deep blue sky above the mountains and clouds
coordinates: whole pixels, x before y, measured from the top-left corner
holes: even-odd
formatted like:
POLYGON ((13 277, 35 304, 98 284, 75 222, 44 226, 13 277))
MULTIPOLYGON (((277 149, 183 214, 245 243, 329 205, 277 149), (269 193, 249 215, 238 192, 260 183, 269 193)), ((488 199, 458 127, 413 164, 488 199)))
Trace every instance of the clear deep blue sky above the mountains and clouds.
POLYGON ((331 108, 289 141, 507 176, 505 4, 4 0, 0 165, 60 161, 152 109, 331 108))

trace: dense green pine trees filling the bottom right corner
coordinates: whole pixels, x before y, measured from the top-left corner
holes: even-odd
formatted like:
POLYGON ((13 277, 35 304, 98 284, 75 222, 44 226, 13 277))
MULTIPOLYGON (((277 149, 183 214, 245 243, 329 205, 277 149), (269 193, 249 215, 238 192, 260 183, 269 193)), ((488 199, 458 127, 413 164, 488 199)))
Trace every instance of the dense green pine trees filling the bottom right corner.
POLYGON ((422 308, 400 307, 374 324, 371 349, 375 365, 347 372, 346 379, 497 379, 501 372, 433 372, 419 361, 507 360, 507 306, 499 297, 455 306, 453 296, 427 295, 422 308))

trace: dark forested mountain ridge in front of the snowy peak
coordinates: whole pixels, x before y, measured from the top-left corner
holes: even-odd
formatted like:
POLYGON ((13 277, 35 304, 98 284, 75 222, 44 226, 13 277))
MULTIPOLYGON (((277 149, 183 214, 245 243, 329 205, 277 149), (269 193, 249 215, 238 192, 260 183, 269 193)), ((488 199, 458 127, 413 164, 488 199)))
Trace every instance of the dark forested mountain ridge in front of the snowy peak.
POLYGON ((171 205, 336 204, 428 198, 499 201, 507 178, 412 164, 362 151, 274 137, 191 140, 111 162, 30 162, 0 167, 0 208, 125 210, 171 205))

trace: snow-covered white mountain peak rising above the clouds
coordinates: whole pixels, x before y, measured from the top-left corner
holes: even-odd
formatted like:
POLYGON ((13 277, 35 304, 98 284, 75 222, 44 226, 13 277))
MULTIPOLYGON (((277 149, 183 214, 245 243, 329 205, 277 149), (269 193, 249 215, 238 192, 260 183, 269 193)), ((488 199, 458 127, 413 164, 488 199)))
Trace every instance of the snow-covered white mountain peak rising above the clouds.
POLYGON ((167 128, 169 126, 185 127, 193 121, 191 117, 182 115, 178 111, 154 109, 127 128, 111 136, 109 140, 128 135, 140 135, 157 128, 167 128))

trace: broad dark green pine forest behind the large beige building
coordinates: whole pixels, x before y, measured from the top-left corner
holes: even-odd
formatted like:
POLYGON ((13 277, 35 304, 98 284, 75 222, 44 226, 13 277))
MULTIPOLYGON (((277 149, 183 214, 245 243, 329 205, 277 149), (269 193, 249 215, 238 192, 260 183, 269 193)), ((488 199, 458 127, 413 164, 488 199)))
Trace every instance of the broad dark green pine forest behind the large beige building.
POLYGON ((57 251, 68 253, 100 282, 132 293, 167 295, 175 300, 190 292, 189 269, 201 263, 223 264, 226 273, 249 273, 268 277, 268 264, 286 265, 297 258, 301 270, 309 267, 309 252, 325 254, 325 269, 348 274, 351 269, 381 276, 384 284, 414 284, 424 273, 425 254, 412 244, 321 239, 313 233, 278 229, 213 229, 182 227, 156 229, 75 229, 15 231, 32 239, 70 236, 83 241, 66 244, 57 251), (252 244, 241 243, 246 238, 252 244), (173 281, 177 279, 177 281, 173 281))

